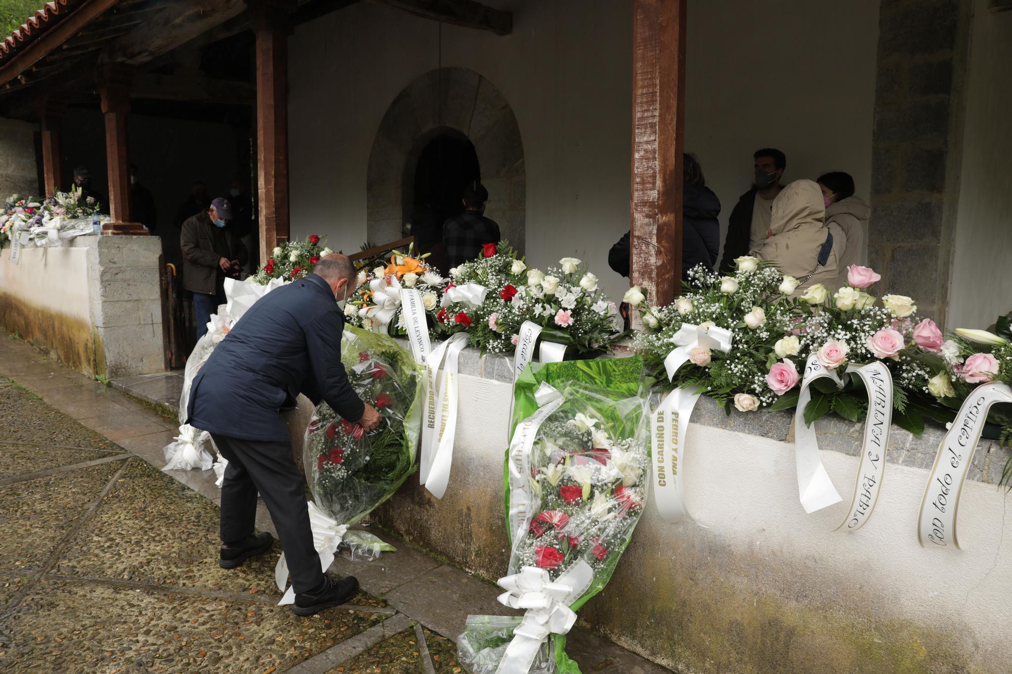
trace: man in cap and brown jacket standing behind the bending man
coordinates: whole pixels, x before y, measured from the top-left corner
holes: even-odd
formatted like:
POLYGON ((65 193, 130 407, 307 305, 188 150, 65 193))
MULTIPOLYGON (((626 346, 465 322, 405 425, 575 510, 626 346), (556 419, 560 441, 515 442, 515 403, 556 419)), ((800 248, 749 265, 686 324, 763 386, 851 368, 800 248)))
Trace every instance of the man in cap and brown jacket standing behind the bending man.
POLYGON ((239 278, 249 252, 232 231, 232 204, 218 197, 206 210, 183 223, 179 247, 183 253, 183 287, 193 293, 196 338, 207 332, 210 315, 225 304, 225 279, 239 278))

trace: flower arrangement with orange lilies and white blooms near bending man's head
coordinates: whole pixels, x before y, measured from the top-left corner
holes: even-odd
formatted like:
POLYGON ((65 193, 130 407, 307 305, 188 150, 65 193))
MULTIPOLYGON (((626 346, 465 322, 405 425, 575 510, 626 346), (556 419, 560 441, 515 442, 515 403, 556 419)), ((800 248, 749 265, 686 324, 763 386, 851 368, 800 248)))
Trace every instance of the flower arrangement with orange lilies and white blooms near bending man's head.
POLYGON ((413 245, 407 252, 392 251, 384 263, 358 272, 355 291, 344 305, 348 325, 395 336, 407 334, 401 290, 414 288, 421 294, 427 326, 443 332, 436 315, 446 279, 426 262, 428 253, 412 253, 413 245))

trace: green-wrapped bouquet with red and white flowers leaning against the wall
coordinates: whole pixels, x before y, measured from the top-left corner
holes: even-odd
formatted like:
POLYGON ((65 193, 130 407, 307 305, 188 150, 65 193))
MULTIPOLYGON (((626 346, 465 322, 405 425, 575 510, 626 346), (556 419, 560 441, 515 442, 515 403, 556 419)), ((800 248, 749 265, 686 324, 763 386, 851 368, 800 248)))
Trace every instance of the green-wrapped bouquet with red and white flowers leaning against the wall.
POLYGON ((610 579, 647 501, 641 371, 639 357, 533 363, 517 381, 505 488, 513 539, 500 601, 538 608, 527 610, 524 627, 518 616, 469 616, 458 644, 469 671, 580 671, 566 656, 565 633, 610 579), (535 419, 526 436, 521 426, 535 419))

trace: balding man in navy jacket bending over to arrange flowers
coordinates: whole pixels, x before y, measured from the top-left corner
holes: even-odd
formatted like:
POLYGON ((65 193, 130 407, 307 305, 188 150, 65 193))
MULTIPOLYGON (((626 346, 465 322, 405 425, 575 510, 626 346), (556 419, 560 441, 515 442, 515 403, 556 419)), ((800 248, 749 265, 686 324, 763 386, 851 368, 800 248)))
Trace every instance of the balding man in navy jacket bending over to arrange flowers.
POLYGON ((353 577, 334 581, 320 570, 303 476, 291 457, 281 412, 299 394, 369 431, 380 413, 355 394, 341 363, 344 317, 354 265, 328 255, 312 274, 272 290, 243 315, 193 378, 189 423, 209 431, 229 459, 222 485, 219 565, 234 569, 270 549, 254 534, 257 492, 274 522, 296 592, 292 610, 313 615, 358 591, 353 577), (337 302, 335 302, 337 300, 337 302))

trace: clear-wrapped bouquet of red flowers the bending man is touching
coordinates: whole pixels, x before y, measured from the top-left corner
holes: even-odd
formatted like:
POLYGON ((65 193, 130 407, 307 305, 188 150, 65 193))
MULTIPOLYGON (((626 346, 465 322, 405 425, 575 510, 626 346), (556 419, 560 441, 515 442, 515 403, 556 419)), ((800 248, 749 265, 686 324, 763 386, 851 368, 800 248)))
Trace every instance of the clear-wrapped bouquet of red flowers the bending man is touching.
POLYGON ((423 380, 411 353, 359 328, 345 327, 341 359, 355 393, 383 421, 365 433, 321 403, 306 430, 303 460, 316 506, 351 525, 415 471, 423 380))

